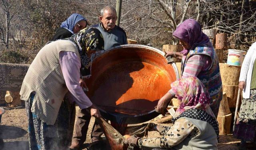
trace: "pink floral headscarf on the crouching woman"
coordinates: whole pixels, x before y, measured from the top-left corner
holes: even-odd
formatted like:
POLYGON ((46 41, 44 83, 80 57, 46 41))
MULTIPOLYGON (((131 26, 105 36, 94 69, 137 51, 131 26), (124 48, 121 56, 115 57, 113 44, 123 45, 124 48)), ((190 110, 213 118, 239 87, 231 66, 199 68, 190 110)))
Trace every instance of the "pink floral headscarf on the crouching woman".
POLYGON ((172 82, 171 87, 178 100, 181 101, 174 118, 191 108, 204 110, 215 118, 210 109, 210 94, 198 78, 194 76, 182 77, 180 80, 172 82))

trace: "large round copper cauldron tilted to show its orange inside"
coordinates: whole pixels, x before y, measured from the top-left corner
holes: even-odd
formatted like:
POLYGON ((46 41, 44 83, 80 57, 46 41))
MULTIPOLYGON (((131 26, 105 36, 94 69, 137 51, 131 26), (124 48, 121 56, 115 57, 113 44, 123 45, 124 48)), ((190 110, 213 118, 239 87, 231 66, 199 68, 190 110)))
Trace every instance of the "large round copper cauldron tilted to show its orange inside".
POLYGON ((93 61, 87 95, 104 118, 136 124, 158 115, 154 106, 178 78, 164 52, 144 45, 116 46, 93 61))

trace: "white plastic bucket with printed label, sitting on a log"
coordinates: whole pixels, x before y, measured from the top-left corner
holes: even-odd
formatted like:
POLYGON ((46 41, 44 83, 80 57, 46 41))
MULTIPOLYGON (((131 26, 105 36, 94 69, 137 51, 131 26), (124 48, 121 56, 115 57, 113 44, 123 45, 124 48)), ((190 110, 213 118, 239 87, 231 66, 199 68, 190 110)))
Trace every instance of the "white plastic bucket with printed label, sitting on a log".
POLYGON ((245 57, 246 51, 228 49, 227 64, 232 66, 241 66, 245 57))

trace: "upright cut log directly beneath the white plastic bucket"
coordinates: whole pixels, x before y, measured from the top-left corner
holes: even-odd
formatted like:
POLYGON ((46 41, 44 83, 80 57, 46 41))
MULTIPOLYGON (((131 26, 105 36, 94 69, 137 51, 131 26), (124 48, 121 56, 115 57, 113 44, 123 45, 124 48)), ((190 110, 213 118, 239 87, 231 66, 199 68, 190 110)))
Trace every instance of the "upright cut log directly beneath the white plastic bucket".
POLYGON ((231 66, 228 64, 220 63, 220 76, 222 79, 222 84, 238 85, 240 70, 241 66, 231 66))

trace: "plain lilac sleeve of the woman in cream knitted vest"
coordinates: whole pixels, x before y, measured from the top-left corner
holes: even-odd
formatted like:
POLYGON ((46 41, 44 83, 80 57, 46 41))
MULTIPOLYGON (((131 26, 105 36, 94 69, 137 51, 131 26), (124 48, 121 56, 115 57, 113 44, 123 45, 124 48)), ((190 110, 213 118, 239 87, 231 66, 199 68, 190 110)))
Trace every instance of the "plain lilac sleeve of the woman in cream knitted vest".
POLYGON ((74 101, 81 109, 92 106, 92 102, 86 96, 80 86, 81 62, 74 52, 60 52, 60 66, 66 86, 74 96, 74 101))

